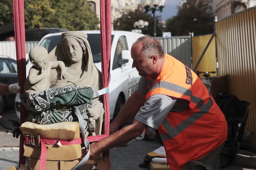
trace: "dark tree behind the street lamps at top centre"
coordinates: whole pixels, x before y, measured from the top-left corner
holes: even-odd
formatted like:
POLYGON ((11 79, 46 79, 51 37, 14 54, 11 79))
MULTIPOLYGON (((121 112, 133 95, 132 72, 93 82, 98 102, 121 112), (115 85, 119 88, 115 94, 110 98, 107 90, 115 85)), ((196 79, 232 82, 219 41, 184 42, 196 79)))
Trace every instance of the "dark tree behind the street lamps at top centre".
MULTIPOLYGON (((151 11, 148 11, 148 13, 151 13, 151 11)), ((143 34, 149 34, 151 36, 154 36, 154 18, 151 14, 148 13, 144 12, 140 6, 134 11, 124 11, 120 18, 114 20, 114 30, 131 31, 132 29, 135 29, 133 27, 134 22, 138 20, 143 20, 148 21, 149 23, 147 30, 142 30, 143 34)), ((162 32, 163 24, 159 23, 159 17, 156 17, 157 37, 162 37, 162 32)))

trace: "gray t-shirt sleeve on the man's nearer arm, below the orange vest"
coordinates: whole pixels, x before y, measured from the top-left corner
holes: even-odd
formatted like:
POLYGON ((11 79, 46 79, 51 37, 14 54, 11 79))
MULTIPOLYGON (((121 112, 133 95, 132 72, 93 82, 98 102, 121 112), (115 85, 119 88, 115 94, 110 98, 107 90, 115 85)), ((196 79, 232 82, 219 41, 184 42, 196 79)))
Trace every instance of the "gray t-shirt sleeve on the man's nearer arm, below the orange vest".
POLYGON ((176 101, 163 94, 152 95, 144 103, 144 106, 140 108, 135 119, 154 129, 158 129, 176 101))

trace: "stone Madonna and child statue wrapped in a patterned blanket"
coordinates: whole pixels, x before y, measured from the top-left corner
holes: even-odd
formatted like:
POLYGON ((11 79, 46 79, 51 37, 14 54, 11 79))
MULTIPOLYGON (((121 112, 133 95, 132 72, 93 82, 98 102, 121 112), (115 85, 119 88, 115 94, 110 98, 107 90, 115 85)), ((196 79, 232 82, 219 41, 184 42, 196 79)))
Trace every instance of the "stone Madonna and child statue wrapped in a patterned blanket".
POLYGON ((51 124, 77 121, 69 105, 79 105, 79 111, 88 123, 87 135, 100 135, 104 114, 102 96, 90 98, 92 92, 102 89, 102 78, 101 72, 93 63, 87 34, 69 31, 63 33, 61 38, 62 40, 48 56, 42 48, 30 52, 35 59, 33 60, 32 57, 30 59, 33 67, 25 83, 25 95, 30 99, 27 105, 34 105, 38 111, 41 111, 31 113, 32 122, 51 124), (31 78, 33 76, 30 74, 34 78, 31 78), (36 80, 35 76, 37 76, 36 80), (50 89, 47 90, 48 87, 50 89), (45 89, 42 90, 43 88, 45 89), (76 93, 72 89, 75 89, 76 93), (82 93, 87 96, 79 96, 82 93), (74 95, 79 101, 72 101, 74 95), (61 102, 57 102, 57 105, 49 105, 53 101, 56 102, 57 99, 54 97, 61 102), (39 103, 35 104, 38 101, 39 103), (48 109, 44 110, 45 108, 48 109))

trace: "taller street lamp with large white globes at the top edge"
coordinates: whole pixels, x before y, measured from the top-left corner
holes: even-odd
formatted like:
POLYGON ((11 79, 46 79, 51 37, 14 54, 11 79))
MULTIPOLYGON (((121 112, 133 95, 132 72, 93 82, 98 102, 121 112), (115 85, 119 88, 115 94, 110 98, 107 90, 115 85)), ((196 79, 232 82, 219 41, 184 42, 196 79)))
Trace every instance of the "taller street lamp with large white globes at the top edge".
POLYGON ((154 37, 156 37, 155 11, 163 11, 167 0, 143 0, 141 5, 147 11, 152 11, 154 17, 154 37))

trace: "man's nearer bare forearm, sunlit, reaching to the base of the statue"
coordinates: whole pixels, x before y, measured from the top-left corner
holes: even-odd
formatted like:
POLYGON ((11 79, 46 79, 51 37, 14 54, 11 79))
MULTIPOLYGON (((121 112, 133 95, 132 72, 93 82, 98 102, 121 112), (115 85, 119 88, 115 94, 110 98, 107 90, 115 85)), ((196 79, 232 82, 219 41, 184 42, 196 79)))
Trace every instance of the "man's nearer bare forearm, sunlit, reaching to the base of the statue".
POLYGON ((143 123, 134 119, 132 125, 126 126, 123 129, 115 132, 113 135, 110 135, 96 143, 90 144, 91 151, 89 159, 97 160, 104 150, 118 147, 131 141, 137 136, 140 136, 147 129, 147 127, 147 125, 144 125, 143 123))

